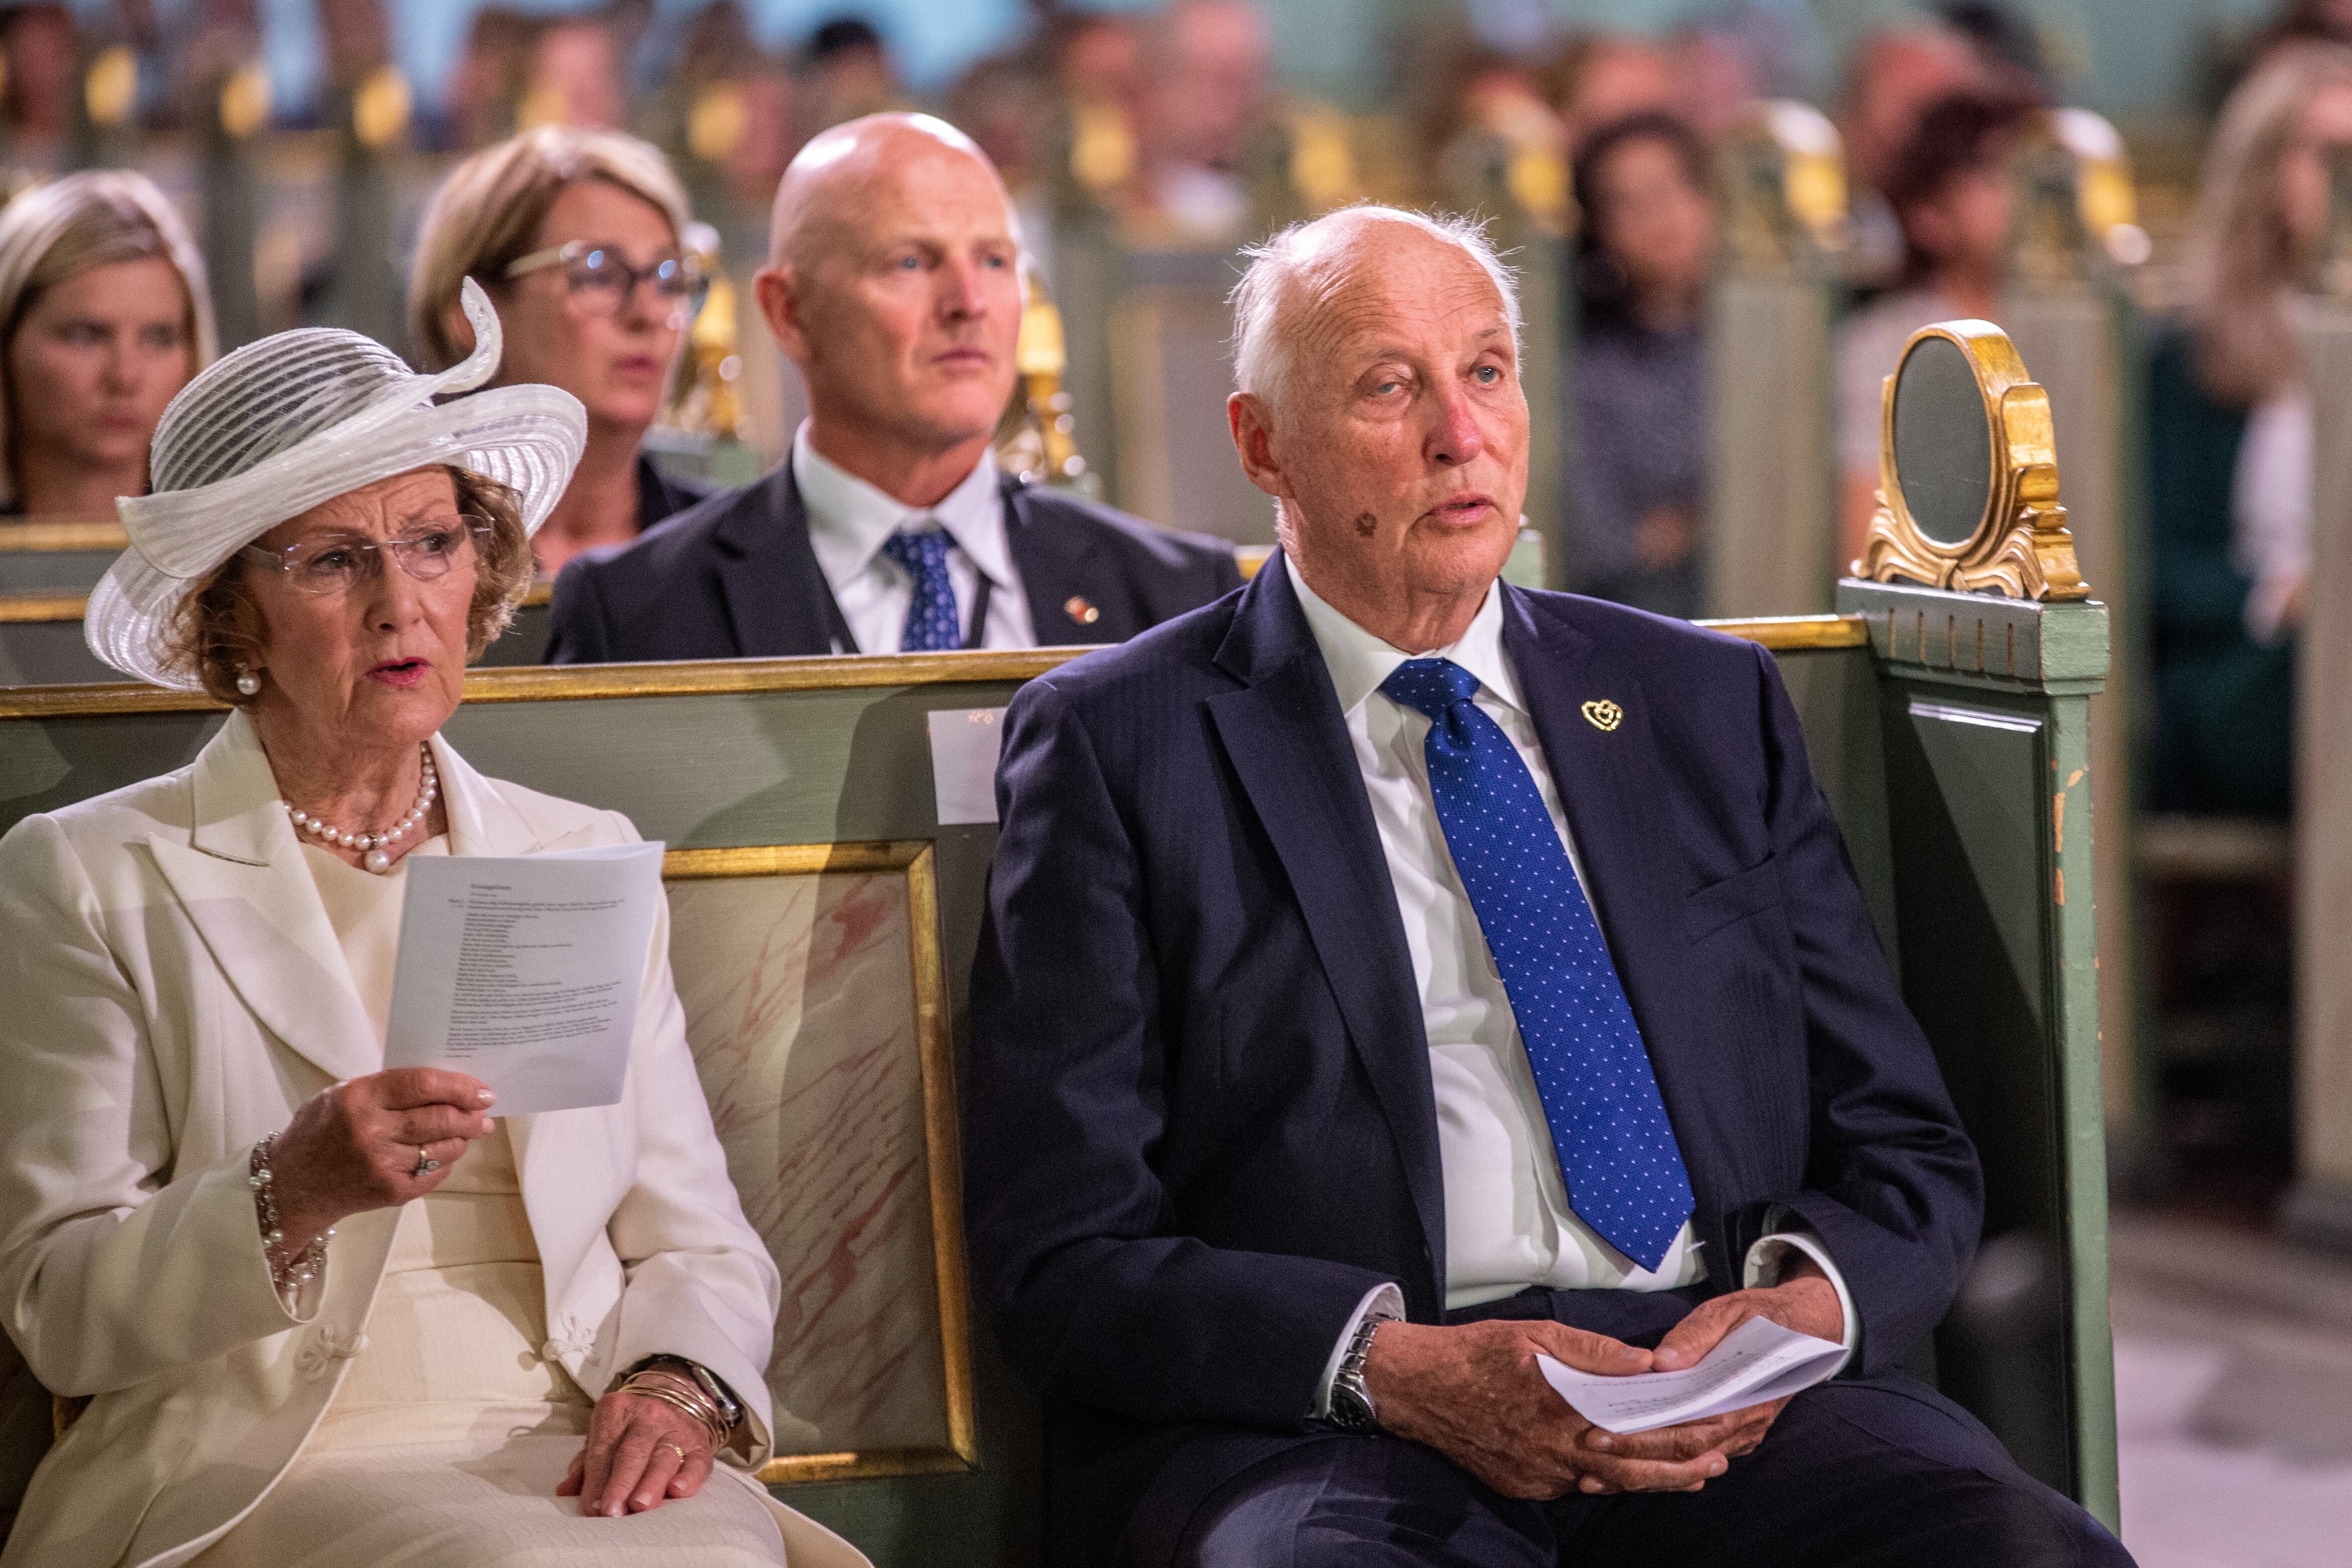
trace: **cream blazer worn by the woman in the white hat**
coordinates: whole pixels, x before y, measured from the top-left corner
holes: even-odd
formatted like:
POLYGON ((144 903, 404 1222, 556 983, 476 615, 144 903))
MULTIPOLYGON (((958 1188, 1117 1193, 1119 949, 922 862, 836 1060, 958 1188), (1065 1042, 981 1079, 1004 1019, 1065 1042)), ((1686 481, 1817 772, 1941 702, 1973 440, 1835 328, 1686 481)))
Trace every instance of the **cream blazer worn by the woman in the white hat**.
MULTIPOLYGON (((433 762, 452 853, 637 837, 614 811, 482 778, 440 738, 433 762)), ((621 1103, 510 1119, 546 1269, 541 1354, 590 1394, 654 1352, 701 1361, 746 1403, 729 1460, 753 1467, 781 1281, 727 1180, 668 943, 663 907, 621 1103)), ((301 1453, 400 1213, 341 1222, 287 1312, 247 1152, 381 1051, 242 712, 191 766, 0 839, 0 1321, 52 1392, 94 1396, 0 1568, 183 1563, 301 1453)), ((866 1561, 776 1514, 793 1568, 866 1561)))

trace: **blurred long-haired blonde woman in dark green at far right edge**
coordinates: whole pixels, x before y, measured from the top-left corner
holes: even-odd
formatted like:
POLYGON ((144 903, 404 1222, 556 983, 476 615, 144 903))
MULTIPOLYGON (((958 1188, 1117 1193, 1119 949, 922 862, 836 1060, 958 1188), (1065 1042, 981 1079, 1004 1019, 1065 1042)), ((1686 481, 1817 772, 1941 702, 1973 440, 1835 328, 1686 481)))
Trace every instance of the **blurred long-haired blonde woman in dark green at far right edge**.
POLYGON ((2187 313, 2147 383, 2157 804, 2286 816, 2293 635, 2312 531, 2312 402, 2291 303, 2352 146, 2352 49, 2286 45, 2206 148, 2187 313))

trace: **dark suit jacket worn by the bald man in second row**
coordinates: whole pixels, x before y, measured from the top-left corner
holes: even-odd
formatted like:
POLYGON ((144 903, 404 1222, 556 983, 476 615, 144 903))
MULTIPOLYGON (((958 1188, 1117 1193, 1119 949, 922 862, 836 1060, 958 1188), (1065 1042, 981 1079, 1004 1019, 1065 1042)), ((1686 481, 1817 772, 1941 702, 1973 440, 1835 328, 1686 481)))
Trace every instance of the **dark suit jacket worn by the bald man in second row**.
MULTIPOLYGON (((1232 545, 1004 480, 1004 534, 1037 642, 1124 642, 1242 581, 1232 545), (1080 621, 1073 602, 1094 621, 1080 621)), ((555 578, 548 663, 830 654, 840 611, 809 548, 793 465, 572 559, 555 578)), ((866 649, 896 654, 896 649, 866 649)))

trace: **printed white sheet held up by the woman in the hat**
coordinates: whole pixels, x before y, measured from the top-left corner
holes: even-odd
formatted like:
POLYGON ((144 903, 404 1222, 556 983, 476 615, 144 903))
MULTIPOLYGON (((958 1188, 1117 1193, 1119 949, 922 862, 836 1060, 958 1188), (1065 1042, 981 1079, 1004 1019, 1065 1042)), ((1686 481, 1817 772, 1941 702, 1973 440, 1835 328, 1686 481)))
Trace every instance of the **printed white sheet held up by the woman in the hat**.
POLYGON ((470 1072, 499 1117, 616 1103, 661 844, 407 867, 383 1065, 470 1072))

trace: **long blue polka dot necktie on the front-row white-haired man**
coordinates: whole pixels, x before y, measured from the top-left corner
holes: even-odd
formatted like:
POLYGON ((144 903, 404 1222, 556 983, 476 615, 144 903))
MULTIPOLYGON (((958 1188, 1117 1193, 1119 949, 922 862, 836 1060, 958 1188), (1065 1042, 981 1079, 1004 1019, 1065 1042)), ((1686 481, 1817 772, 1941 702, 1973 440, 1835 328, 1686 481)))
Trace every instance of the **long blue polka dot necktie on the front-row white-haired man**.
POLYGON ((1691 1218, 1691 1178, 1658 1098, 1599 922, 1510 736, 1470 696, 1477 677, 1414 658, 1381 682, 1430 719, 1430 795, 1536 1070, 1569 1204, 1644 1269, 1691 1218))

